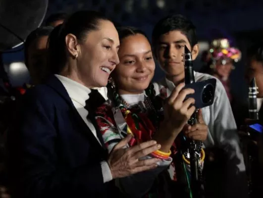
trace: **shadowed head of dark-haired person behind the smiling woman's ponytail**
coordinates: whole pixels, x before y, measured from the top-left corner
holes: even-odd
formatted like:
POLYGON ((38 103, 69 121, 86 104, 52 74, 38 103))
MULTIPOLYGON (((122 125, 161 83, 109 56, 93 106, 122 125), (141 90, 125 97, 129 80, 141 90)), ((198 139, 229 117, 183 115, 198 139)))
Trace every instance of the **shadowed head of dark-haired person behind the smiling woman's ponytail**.
POLYGON ((41 83, 47 76, 47 43, 53 27, 40 27, 31 32, 24 45, 25 64, 31 83, 41 83))

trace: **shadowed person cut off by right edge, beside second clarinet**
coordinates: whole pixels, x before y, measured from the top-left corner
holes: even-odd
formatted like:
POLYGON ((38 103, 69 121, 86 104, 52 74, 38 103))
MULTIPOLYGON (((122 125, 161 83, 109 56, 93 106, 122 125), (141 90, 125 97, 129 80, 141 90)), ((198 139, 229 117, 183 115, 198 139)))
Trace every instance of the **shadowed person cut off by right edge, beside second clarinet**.
MULTIPOLYGON (((247 103, 238 105, 236 109, 237 123, 240 125, 240 137, 242 137, 243 152, 245 156, 247 174, 251 198, 258 197, 263 187, 263 134, 261 128, 251 130, 250 125, 255 123, 263 125, 263 42, 254 43, 247 49, 245 79, 250 84, 255 78, 257 86, 257 111, 259 120, 250 119, 249 99, 247 103)), ((247 90, 253 92, 254 90, 247 90)), ((250 97, 250 96, 248 96, 250 97)))

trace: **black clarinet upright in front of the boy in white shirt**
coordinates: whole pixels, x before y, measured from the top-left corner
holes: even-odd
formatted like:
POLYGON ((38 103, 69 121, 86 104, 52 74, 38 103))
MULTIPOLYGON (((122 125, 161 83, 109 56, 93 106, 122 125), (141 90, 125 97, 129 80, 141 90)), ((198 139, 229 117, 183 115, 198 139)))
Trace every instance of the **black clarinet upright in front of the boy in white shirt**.
MULTIPOLYGON (((184 71, 185 71, 185 84, 195 83, 192 54, 185 46, 184 48, 184 71)), ((198 109, 193 113, 188 120, 191 126, 198 123, 197 120, 198 109)), ((190 157, 190 170, 191 170, 191 190, 193 198, 204 198, 204 184, 202 181, 202 168, 201 168, 201 148, 202 142, 196 140, 189 140, 189 148, 186 155, 190 157)))

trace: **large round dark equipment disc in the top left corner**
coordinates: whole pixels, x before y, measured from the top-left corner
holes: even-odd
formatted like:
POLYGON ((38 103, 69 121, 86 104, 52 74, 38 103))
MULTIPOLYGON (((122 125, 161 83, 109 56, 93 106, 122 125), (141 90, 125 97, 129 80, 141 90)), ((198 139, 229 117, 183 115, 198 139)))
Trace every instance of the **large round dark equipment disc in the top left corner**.
POLYGON ((0 52, 13 49, 44 20, 48 0, 0 1, 0 52))

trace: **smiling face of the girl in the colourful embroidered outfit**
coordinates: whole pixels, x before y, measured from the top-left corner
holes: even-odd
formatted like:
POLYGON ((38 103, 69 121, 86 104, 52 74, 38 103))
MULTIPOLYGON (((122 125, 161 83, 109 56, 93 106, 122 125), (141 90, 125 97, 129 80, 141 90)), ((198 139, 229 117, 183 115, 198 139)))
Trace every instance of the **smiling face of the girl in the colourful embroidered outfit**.
POLYGON ((140 94, 150 84, 155 61, 148 39, 142 34, 122 39, 118 51, 120 63, 113 72, 113 79, 120 94, 140 94))

